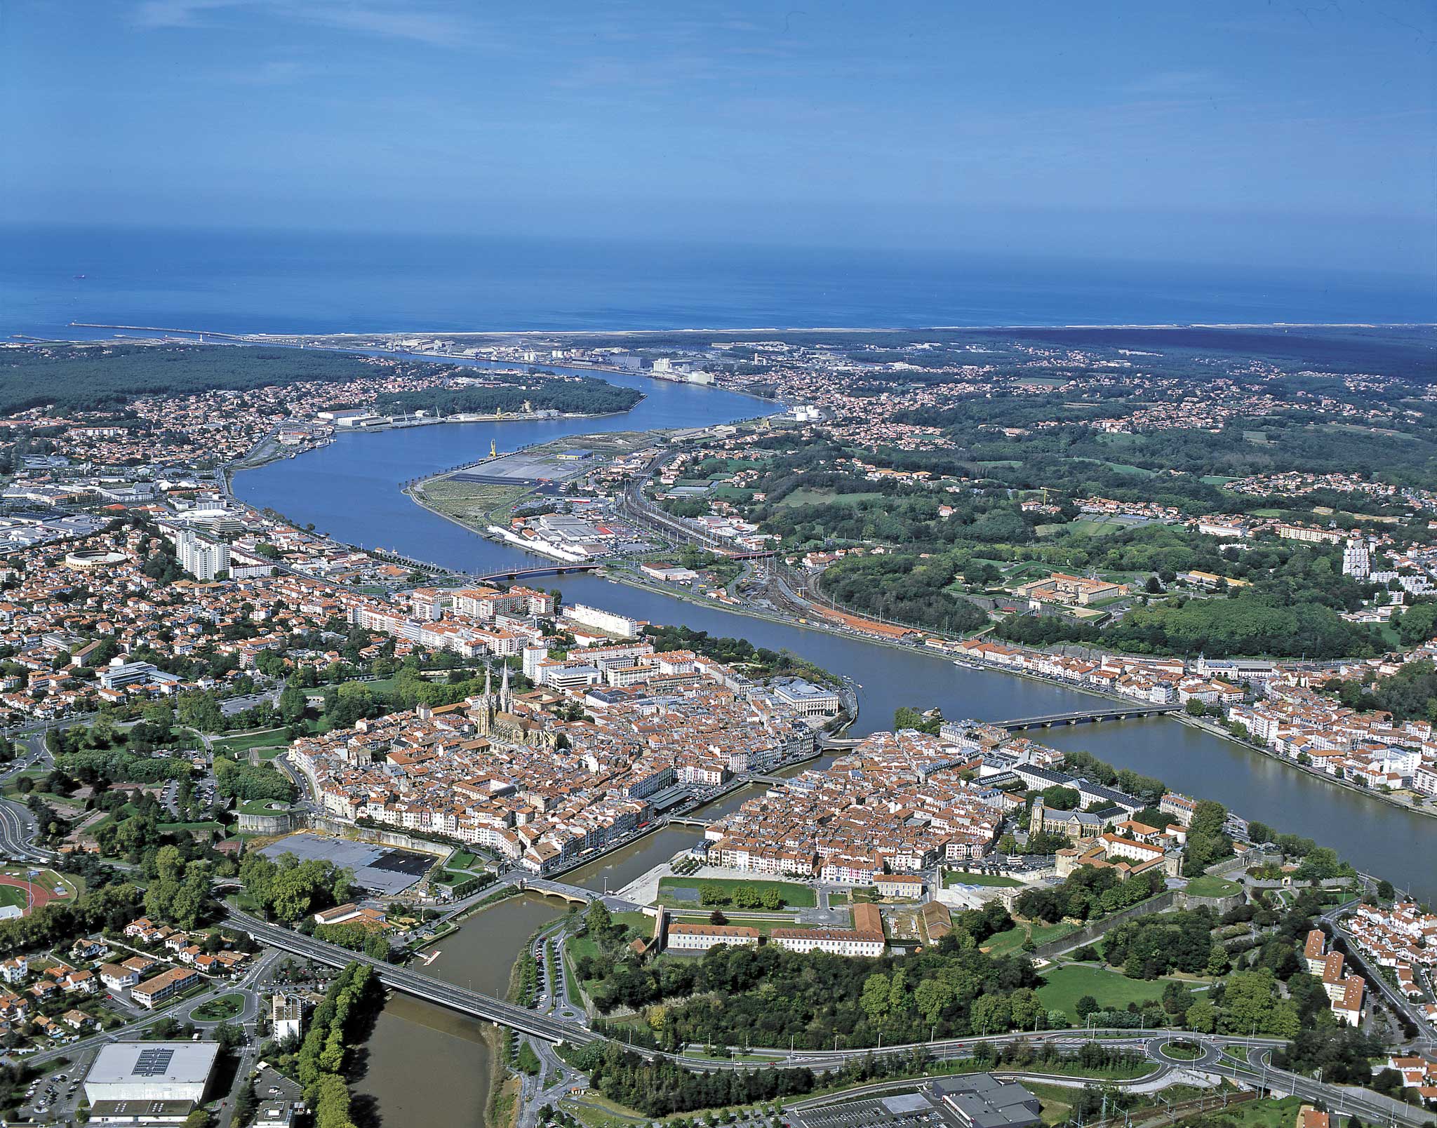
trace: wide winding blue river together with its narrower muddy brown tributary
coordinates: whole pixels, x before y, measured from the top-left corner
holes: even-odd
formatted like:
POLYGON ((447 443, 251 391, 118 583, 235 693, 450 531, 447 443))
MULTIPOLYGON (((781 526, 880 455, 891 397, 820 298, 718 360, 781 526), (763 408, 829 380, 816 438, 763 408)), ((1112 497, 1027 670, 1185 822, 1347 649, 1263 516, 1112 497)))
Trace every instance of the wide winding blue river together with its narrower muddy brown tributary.
MULTIPOLYGON (((401 483, 481 457, 491 440, 506 451, 570 434, 710 427, 772 410, 714 388, 602 375, 641 389, 645 398, 632 411, 602 420, 514 420, 341 434, 320 450, 239 474, 234 491, 299 523, 313 522, 318 530, 349 543, 394 549, 466 572, 496 570, 536 558, 434 516, 410 501, 399 491, 401 483)), ((570 602, 749 638, 846 674, 859 687, 859 734, 890 727, 898 706, 938 706, 947 717, 1002 720, 1075 708, 1092 700, 1029 678, 966 670, 930 654, 701 606, 596 576, 563 576, 545 581, 545 586, 562 588, 570 602)), ((1177 790, 1217 799, 1244 818, 1316 838, 1359 868, 1411 888, 1418 897, 1437 898, 1437 820, 1431 818, 1364 799, 1174 720, 1053 729, 1039 739, 1059 749, 1086 749, 1177 790)), ((576 877, 596 888, 602 881, 616 888, 693 841, 688 832, 662 831, 576 877)), ((430 971, 502 991, 525 937, 559 912, 556 904, 530 898, 487 910, 444 941, 430 971)), ((369 1043, 369 1073, 359 1092, 378 1102, 389 1124, 481 1125, 489 1066, 477 1030, 476 1023, 447 1012, 395 999, 369 1043), (435 1063, 451 1068, 434 1069, 435 1063), (445 1078, 445 1083, 417 1083, 420 1078, 445 1078)))

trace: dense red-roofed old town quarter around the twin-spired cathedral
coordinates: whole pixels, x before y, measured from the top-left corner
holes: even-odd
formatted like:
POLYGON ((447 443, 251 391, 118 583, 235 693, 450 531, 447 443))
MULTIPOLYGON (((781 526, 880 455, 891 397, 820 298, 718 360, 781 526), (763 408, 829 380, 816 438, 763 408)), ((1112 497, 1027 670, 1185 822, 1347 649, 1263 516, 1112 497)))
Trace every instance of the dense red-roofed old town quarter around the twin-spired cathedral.
POLYGON ((420 707, 303 737, 292 763, 322 808, 491 849, 533 872, 619 841, 693 787, 720 786, 812 754, 793 708, 741 695, 717 662, 650 644, 614 647, 595 667, 622 688, 496 687, 457 706, 420 707), (629 671, 650 677, 627 677, 629 671), (582 720, 560 710, 582 706, 582 720), (586 711, 592 704, 592 711, 586 711))

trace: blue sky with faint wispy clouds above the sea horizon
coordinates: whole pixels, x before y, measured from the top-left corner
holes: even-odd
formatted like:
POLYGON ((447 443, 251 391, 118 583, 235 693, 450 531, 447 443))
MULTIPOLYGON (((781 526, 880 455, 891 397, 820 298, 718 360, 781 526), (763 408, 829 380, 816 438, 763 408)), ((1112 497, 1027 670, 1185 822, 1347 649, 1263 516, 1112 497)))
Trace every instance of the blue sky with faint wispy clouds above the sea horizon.
POLYGON ((1431 274, 1431 3, 3 0, 26 223, 1431 274))

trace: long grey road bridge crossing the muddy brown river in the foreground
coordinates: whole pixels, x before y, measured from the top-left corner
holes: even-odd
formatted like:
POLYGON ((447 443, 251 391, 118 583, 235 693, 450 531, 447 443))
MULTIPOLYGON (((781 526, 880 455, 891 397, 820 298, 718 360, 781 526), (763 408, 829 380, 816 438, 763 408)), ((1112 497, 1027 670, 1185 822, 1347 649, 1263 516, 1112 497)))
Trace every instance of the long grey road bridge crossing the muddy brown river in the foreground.
POLYGON ((226 921, 231 928, 247 933, 260 944, 302 956, 315 963, 331 967, 343 967, 348 963, 368 964, 379 974, 379 981, 387 987, 404 991, 415 999, 422 999, 427 1003, 457 1010, 461 1014, 507 1026, 512 1030, 540 1037, 545 1042, 585 1045, 602 1040, 604 1037, 578 1022, 547 1017, 527 1007, 506 1003, 502 999, 494 999, 480 991, 456 987, 443 980, 410 971, 405 967, 375 960, 362 951, 349 951, 348 948, 326 944, 322 940, 315 940, 303 933, 296 933, 277 924, 266 924, 244 912, 227 912, 226 921))

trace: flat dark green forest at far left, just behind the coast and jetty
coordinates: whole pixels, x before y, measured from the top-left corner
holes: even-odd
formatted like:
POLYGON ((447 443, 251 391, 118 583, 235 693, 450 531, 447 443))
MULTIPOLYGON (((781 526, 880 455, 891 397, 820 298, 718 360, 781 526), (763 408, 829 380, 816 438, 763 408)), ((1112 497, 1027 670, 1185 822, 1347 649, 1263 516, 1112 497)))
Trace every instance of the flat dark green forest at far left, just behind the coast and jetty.
POLYGON ((322 381, 345 384, 382 374, 433 374, 441 365, 320 349, 228 345, 52 345, 0 352, 0 414, 53 404, 56 411, 119 411, 137 395, 247 391, 322 381))

